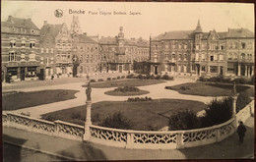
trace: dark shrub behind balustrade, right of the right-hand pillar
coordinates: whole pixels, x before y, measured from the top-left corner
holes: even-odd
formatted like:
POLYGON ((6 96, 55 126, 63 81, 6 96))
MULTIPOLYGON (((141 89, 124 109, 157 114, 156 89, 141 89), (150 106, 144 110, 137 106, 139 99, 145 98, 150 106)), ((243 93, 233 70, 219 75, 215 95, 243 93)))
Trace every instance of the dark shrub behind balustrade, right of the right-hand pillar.
POLYGON ((237 101, 236 101, 236 113, 238 113, 250 102, 251 102, 251 98, 250 98, 249 89, 240 92, 239 95, 237 96, 237 101))

